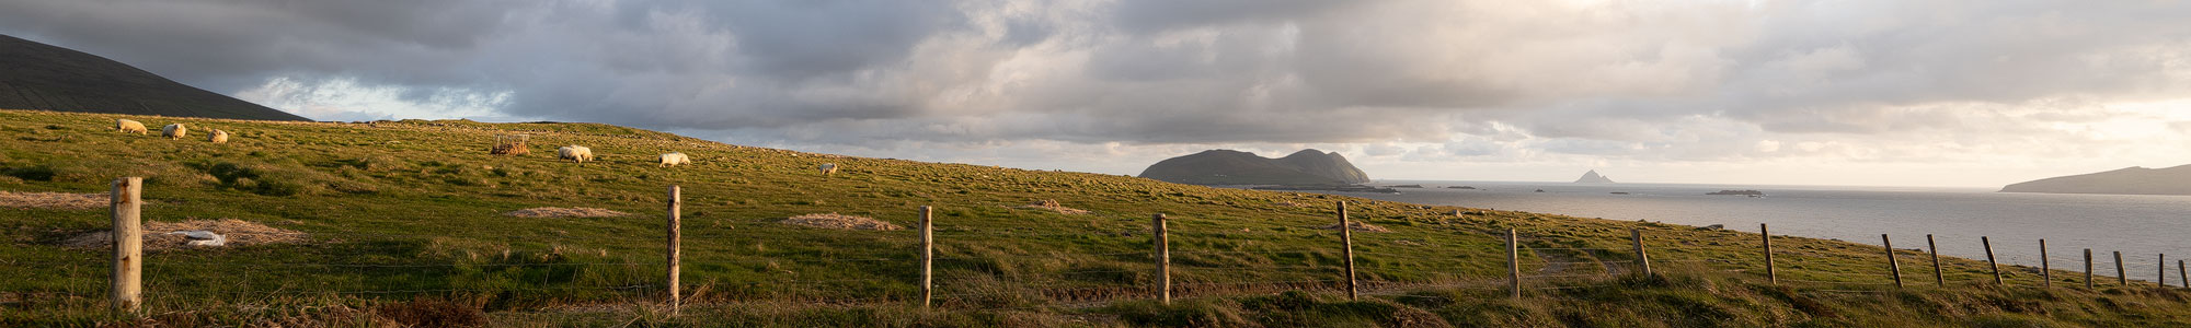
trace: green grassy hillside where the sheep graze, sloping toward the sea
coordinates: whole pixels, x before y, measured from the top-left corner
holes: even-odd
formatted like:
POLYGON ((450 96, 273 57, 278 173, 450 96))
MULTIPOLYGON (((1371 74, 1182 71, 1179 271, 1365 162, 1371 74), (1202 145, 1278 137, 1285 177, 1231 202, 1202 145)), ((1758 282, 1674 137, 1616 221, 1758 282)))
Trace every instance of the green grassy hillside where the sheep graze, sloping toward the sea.
MULTIPOLYGON (((101 208, 0 206, 0 326, 2184 326, 2191 293, 2081 289, 2081 273, 1943 258, 1908 289, 1869 245, 1163 184, 1155 179, 839 157, 570 122, 272 122, 0 112, 0 190, 105 192, 145 177, 145 219, 241 219, 291 245, 147 256, 147 315, 105 304, 107 251, 64 247, 101 208), (114 118, 226 129, 228 144, 112 131, 114 118), (532 155, 489 155, 530 133, 532 155), (554 160, 585 144, 598 162, 554 160), (681 151, 690 166, 655 166, 681 151), (837 175, 817 164, 841 164, 837 175), (681 315, 659 306, 664 190, 684 188, 681 315), (1089 210, 1023 208, 1054 199, 1089 210), (1341 293, 1337 201, 1356 221, 1361 300, 1341 293), (631 212, 537 219, 576 206, 631 212), (918 232, 782 225, 857 214, 914 227, 936 206, 938 311, 918 306, 918 232), (1455 216, 1453 212, 1470 212, 1455 216), (1170 216, 1179 302, 1152 302, 1150 214, 1170 216), (1510 300, 1505 230, 1529 276, 1510 300), (1634 276, 1628 230, 1654 269, 1634 276)), ((2112 280, 2110 280, 2112 282, 2112 280)))

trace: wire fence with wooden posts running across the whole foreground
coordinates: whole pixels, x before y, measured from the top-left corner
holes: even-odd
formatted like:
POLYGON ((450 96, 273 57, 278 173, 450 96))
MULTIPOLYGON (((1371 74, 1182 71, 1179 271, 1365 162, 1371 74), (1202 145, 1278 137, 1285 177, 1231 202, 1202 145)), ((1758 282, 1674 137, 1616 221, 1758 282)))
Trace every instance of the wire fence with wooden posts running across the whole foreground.
MULTIPOLYGON (((673 192, 675 195, 675 192, 673 192)), ((673 197, 673 201, 677 201, 673 197)), ((776 300, 776 302, 806 302, 806 304, 925 304, 944 308, 1082 308, 1082 306, 1104 306, 1111 302, 1126 300, 1163 300, 1172 297, 1223 297, 1223 295, 1253 295, 1253 293, 1277 293, 1277 291, 1317 291, 1317 293, 1345 293, 1350 297, 1391 297, 1391 300, 1453 300, 1455 295, 1439 295, 1439 291, 1510 291, 1514 297, 1523 297, 1525 291, 1534 293, 1562 293, 1562 291, 1584 291, 1584 289, 1621 289, 1624 278, 1652 276, 1663 267, 1676 267, 1678 271, 1713 271, 1713 273, 1737 273, 1744 278, 1764 276, 1773 284, 1805 286, 1803 291, 1819 293, 1889 293, 1893 289, 1906 286, 2055 286, 2055 289, 2081 289, 2099 284, 2130 284, 2123 265, 2160 267, 2154 282, 2165 282, 2167 260, 2114 260, 2112 254, 2092 258, 2084 256, 2042 256, 2049 267, 2053 262, 2064 262, 2073 267, 2057 269, 2084 269, 2086 271, 2027 271, 2027 267, 2011 267, 2007 271, 2000 265, 1989 262, 1983 276, 1974 273, 1968 262, 1957 262, 1941 267, 1937 254, 1911 251, 1911 249, 1880 249, 1875 258, 1851 251, 1829 251, 1814 245, 1792 245, 1775 249, 1770 245, 1773 236, 1759 227, 1766 238, 1759 243, 1711 243, 1691 245, 1691 241, 1680 243, 1659 243, 1645 241, 1641 230, 1632 230, 1628 247, 1597 247, 1593 243, 1615 243, 1615 241, 1580 241, 1580 236, 1558 234, 1558 232, 1516 232, 1505 230, 1505 247, 1499 251, 1479 254, 1426 254, 1426 251, 1387 251, 1387 249, 1354 249, 1356 225, 1347 223, 1345 203, 1337 206, 1341 225, 1330 230, 1168 230, 1166 219, 1157 214, 1152 227, 1148 230, 1082 230, 1082 232, 1032 232, 1032 230, 979 230, 979 227, 933 227, 929 212, 922 210, 922 227, 914 232, 892 232, 887 236, 870 236, 863 243, 876 245, 903 245, 907 249, 879 249, 872 254, 802 254, 802 251, 749 251, 749 254, 681 254, 690 258, 662 258, 662 256, 638 256, 638 258, 613 258, 607 249, 583 249, 572 247, 574 254, 594 251, 598 256, 572 260, 554 258, 537 260, 541 251, 524 251, 513 256, 504 251, 500 256, 471 256, 469 260, 427 262, 421 258, 359 258, 359 260, 206 260, 206 258, 153 258, 138 265, 149 271, 156 284, 147 291, 153 297, 276 297, 276 295, 359 295, 359 297, 412 297, 412 295, 583 295, 583 297, 631 297, 631 300, 670 300, 668 304, 679 304, 681 297, 699 300, 721 300, 721 302, 752 302, 752 300, 776 300), (922 232, 925 230, 925 232, 922 232), (916 234, 918 232, 918 234, 916 234), (977 249, 971 245, 947 243, 938 251, 933 241, 966 241, 966 238, 1054 238, 1054 236, 1120 236, 1104 238, 1111 245, 1085 245, 1082 249, 1041 249, 1041 251, 1001 251, 1001 249, 977 249), (1231 238, 1231 236, 1282 236, 1286 241, 1299 238, 1301 243, 1288 243, 1284 249, 1242 249, 1229 245, 1231 249, 1194 249, 1194 247, 1172 247, 1172 238, 1231 238), (1321 243, 1321 245, 1319 245, 1321 243), (1091 251, 1104 249, 1104 251, 1091 251), (1109 251, 1109 249, 1135 249, 1135 251, 1109 251), (1503 251, 1503 254, 1501 254, 1503 251), (925 256, 929 254, 929 256, 925 256), (1737 256, 1729 254, 1757 254, 1737 256), (1895 254, 1895 256, 1889 256, 1895 254), (1461 271, 1439 271, 1435 267, 1455 262, 1503 262, 1505 276, 1496 273, 1461 273, 1461 271), (1654 258, 1656 256, 1656 258, 1654 258), (1832 258, 1832 260, 1816 260, 1832 258), (1878 260, 1878 265, 1867 265, 1878 260), (1891 260, 1891 262, 1889 262, 1891 260), (2112 262, 2101 262, 2112 260, 2112 262), (940 265, 938 265, 940 262, 940 265), (1378 262, 1383 267, 1361 267, 1363 262, 1378 262), (670 278, 670 271, 679 267, 714 267, 714 269, 749 269, 752 273, 712 278, 701 284, 690 284, 695 289, 681 289, 670 278), (1385 273, 1378 269, 1387 267, 1409 267, 1404 273, 1385 273), (1431 269, 1422 269, 1431 267, 1431 269), (228 278, 197 278, 197 280, 164 280, 169 273, 177 271, 239 271, 241 276, 228 278), (940 269, 940 271, 938 271, 940 269), (2114 276, 2099 276, 2092 271, 2112 269, 2114 276), (337 271, 348 273, 333 280, 302 280, 302 282, 265 282, 250 280, 252 271, 261 278, 291 278, 291 273, 309 271, 337 271), (478 271, 469 273, 475 278, 491 280, 447 280, 447 282, 421 282, 421 276, 449 276, 451 271, 478 271), (515 271, 515 273, 511 273, 515 271), (388 278, 366 276, 386 273, 388 278), (506 276, 495 276, 506 273, 506 276), (1948 282, 1948 278, 1957 282, 1948 282), (1994 278, 1998 276, 1998 278, 1994 278), (1998 280, 1998 282, 1994 282, 1998 280), (2097 282, 2095 282, 2097 280, 2097 282), (2055 284, 2060 282, 2060 284, 2055 284), (383 286, 383 289, 370 289, 383 286), (386 289, 397 286, 397 289, 386 289)), ((673 212, 668 223, 662 225, 670 232, 673 241, 677 236, 677 214, 673 212)), ((134 216, 131 216, 134 219, 134 216)), ((121 223, 123 216, 116 216, 121 223)), ((307 227, 309 234, 300 238, 370 238, 370 241, 410 241, 410 238, 451 238, 443 234, 390 234, 390 232, 366 232, 366 230, 342 230, 342 227, 307 227)), ((397 230, 397 227, 390 227, 397 230)), ((598 232, 587 232, 598 234, 598 232)), ((1501 232, 1455 232, 1455 234, 1483 234, 1501 236, 1501 232)), ((659 234, 655 234, 659 236, 659 234)), ((708 236, 708 234, 695 234, 708 236)), ((464 236, 473 241, 521 241, 535 245, 559 245, 565 238, 583 238, 563 230, 528 230, 515 234, 495 236, 464 236)), ((706 241, 706 238, 695 238, 706 241)), ((1420 247, 1422 241, 1409 241, 1420 247)), ((1407 245, 1407 243, 1398 243, 1407 245)), ((1989 247, 1989 243, 1987 243, 1989 247)), ((666 249, 677 249, 668 245, 666 249)), ((1834 247, 1843 249, 1843 247, 1834 247)), ((1932 249, 1937 251, 1937 249, 1932 249)), ((1989 249, 1992 251, 1992 249, 1989 249)), ((552 247, 546 254, 563 254, 563 247, 552 247)), ((618 249, 618 254, 644 254, 633 249, 618 249)), ((112 258, 31 258, 31 260, 0 260, 0 265, 31 265, 31 267, 68 267, 70 271, 81 267, 110 265, 112 258)), ((121 265, 116 265, 121 267, 121 265)), ((2182 269, 2178 260, 2178 269, 2182 269)), ((2178 276, 2187 276, 2178 271, 2178 276)), ((451 276, 454 278, 454 276, 451 276)), ((77 282, 83 282, 81 278, 77 282)), ((35 302, 35 300, 96 300, 96 297, 127 297, 121 291, 125 282, 121 276, 110 280, 112 286, 44 286, 31 291, 0 291, 0 304, 7 302, 35 302)), ((2178 278, 2184 284, 2191 280, 2178 278)))

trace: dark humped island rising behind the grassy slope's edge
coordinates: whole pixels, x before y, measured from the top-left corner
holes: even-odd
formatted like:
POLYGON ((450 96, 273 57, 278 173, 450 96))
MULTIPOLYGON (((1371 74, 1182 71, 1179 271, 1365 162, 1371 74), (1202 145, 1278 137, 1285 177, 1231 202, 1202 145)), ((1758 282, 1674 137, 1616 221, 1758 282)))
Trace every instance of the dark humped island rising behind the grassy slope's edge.
POLYGON ((1369 175, 1339 153, 1301 149, 1286 157, 1262 157, 1247 151, 1209 149, 1170 157, 1142 171, 1142 177, 1177 184, 1363 184, 1369 175))

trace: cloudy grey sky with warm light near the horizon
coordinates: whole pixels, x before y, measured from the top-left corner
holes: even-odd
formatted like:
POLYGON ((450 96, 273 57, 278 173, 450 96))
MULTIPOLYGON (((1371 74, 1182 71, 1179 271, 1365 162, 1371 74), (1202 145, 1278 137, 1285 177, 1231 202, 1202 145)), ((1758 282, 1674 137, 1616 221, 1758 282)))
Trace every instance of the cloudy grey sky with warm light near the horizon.
POLYGON ((2182 0, 0 0, 316 120, 1137 175, 1968 186, 2191 164, 2182 0))

